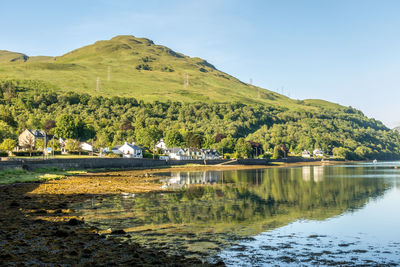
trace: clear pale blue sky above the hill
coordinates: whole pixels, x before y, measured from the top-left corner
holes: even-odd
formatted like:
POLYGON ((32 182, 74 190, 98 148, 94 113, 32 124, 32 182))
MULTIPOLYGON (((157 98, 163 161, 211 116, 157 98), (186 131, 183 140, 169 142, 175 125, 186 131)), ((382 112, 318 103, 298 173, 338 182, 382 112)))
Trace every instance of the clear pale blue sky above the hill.
POLYGON ((400 125, 400 1, 3 1, 0 49, 61 55, 119 34, 242 81, 400 125))

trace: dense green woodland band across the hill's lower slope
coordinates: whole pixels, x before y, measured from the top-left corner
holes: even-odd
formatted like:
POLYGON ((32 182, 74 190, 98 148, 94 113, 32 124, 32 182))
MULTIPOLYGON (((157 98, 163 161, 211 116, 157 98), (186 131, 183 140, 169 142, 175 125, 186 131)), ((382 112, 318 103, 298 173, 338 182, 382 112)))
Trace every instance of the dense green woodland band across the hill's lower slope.
POLYGON ((152 147, 164 137, 169 146, 218 148, 243 157, 252 155, 254 142, 271 153, 279 147, 289 153, 321 148, 353 159, 400 155, 398 133, 350 107, 310 111, 241 103, 145 103, 54 89, 37 81, 0 81, 0 143, 30 128, 91 140, 97 147, 124 141, 152 147))

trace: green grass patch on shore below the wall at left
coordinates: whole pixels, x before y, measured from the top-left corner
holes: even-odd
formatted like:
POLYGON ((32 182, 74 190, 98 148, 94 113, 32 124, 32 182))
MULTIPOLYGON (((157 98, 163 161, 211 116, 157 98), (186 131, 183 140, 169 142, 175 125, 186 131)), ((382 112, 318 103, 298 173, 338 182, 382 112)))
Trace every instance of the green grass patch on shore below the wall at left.
POLYGON ((34 171, 5 169, 0 171, 0 184, 41 182, 63 179, 67 176, 86 173, 85 171, 68 171, 57 168, 44 168, 34 171))

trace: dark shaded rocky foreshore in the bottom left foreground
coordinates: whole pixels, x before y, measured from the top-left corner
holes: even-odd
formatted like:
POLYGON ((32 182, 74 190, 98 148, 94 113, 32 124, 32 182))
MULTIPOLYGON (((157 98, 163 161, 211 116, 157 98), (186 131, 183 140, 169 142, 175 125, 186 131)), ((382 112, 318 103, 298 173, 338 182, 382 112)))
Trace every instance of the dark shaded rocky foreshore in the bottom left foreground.
POLYGON ((209 265, 198 259, 170 256, 122 241, 126 236, 122 230, 115 229, 109 235, 100 234, 97 229, 87 226, 83 218, 70 216, 72 203, 93 195, 31 193, 40 186, 46 184, 0 187, 0 265, 209 265))

